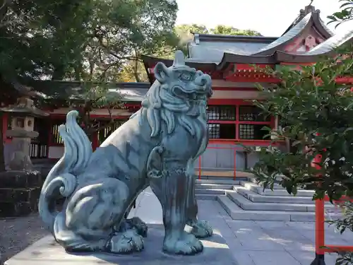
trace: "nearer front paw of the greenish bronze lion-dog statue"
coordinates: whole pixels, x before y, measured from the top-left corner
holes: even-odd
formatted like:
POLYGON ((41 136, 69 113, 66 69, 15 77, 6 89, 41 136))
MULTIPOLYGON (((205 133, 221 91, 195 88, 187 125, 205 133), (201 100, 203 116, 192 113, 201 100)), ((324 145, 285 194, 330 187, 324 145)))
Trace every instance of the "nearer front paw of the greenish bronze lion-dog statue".
POLYGON ((164 252, 170 254, 193 255, 203 251, 202 242, 194 235, 182 232, 179 237, 172 233, 164 238, 164 252))

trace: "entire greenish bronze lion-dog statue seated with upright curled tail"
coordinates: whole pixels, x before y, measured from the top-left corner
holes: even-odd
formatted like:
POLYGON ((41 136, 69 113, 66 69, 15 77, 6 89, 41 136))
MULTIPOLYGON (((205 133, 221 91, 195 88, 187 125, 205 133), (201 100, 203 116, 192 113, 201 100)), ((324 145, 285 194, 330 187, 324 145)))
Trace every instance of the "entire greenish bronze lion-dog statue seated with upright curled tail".
POLYGON ((129 253, 143 249, 147 226, 125 219, 138 194, 150 186, 162 205, 163 250, 195 254, 213 231, 197 219, 194 162, 208 144, 206 105, 210 76, 185 65, 155 66, 155 83, 142 107, 92 153, 91 143, 67 114, 59 128, 64 156, 52 168, 40 195, 40 216, 68 252, 129 253), (66 201, 54 208, 58 196, 66 201), (193 229, 184 231, 185 225, 193 229))

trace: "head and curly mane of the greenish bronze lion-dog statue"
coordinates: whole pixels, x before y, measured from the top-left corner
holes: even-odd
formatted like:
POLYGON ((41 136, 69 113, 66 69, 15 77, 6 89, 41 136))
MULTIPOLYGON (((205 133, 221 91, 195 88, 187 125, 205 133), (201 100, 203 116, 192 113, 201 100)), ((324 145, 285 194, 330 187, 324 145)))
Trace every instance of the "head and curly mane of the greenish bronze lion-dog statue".
POLYGON ((154 73, 156 81, 142 102, 143 110, 148 112, 151 136, 159 134, 161 122, 167 124, 167 133, 171 134, 177 121, 190 134, 196 134, 192 119, 206 120, 207 100, 213 93, 210 76, 186 66, 181 51, 175 53, 172 66, 159 62, 154 73))

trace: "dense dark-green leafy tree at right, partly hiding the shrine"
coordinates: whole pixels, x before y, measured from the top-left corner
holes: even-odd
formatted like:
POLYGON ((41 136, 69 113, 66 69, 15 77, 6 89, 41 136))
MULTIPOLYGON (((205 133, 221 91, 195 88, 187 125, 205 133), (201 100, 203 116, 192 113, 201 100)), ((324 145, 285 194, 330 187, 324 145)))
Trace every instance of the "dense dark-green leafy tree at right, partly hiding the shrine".
MULTIPOLYGON (((279 128, 269 129, 269 134, 275 142, 288 140, 291 148, 261 149, 252 172, 265 187, 279 181, 289 194, 296 194, 298 187, 314 189, 313 199, 353 196, 352 85, 335 81, 352 76, 352 51, 352 45, 343 47, 337 57, 301 69, 268 69, 282 82, 274 90, 263 90, 266 100, 254 103, 280 119, 279 128), (322 156, 320 169, 312 165, 316 155, 322 156)), ((352 220, 345 224, 353 230, 352 220)))

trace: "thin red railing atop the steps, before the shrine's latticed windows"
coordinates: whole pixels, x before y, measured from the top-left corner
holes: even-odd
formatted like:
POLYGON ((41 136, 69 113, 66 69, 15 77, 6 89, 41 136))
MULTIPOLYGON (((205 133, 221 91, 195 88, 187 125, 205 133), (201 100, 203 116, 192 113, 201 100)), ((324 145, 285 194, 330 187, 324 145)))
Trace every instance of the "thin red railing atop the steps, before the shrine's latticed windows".
MULTIPOLYGON (((223 150, 233 150, 234 151, 234 165, 232 167, 232 175, 235 180, 237 177, 237 151, 244 149, 243 146, 270 146, 271 141, 268 140, 225 140, 225 139, 210 139, 208 142, 208 149, 223 149, 223 150), (225 145, 225 146, 211 146, 211 145, 225 145), (227 146, 226 146, 227 145, 227 146)), ((272 143, 273 146, 278 145, 279 143, 272 143)), ((203 170, 201 167, 202 155, 198 158, 198 179, 201 179, 203 170)))

